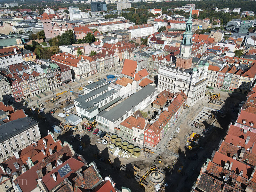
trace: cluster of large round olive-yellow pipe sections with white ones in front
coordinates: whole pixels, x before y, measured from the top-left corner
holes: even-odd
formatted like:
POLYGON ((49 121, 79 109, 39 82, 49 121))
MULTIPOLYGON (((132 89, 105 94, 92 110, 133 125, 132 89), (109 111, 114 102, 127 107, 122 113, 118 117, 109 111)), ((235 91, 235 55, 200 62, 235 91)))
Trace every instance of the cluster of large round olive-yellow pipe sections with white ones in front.
POLYGON ((123 141, 121 137, 117 137, 116 134, 110 137, 111 144, 108 145, 108 150, 114 155, 120 158, 129 159, 130 157, 137 158, 140 156, 140 147, 134 147, 133 144, 129 144, 128 141, 123 141))

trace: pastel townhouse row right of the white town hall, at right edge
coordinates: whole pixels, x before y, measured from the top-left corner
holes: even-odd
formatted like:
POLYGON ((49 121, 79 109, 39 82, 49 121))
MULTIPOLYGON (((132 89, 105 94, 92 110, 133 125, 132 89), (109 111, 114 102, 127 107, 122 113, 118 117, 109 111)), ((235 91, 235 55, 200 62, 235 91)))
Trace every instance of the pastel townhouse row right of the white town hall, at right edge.
POLYGON ((220 89, 247 94, 256 75, 256 60, 224 57, 225 64, 220 68, 210 65, 208 68, 208 85, 220 89))

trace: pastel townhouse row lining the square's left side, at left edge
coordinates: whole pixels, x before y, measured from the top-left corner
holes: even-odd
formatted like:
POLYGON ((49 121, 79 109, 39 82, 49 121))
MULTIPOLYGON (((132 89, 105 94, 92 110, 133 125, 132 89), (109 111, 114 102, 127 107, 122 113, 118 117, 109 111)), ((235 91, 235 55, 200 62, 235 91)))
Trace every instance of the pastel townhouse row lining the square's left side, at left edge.
POLYGON ((1 71, 0 100, 8 104, 33 97, 72 82, 71 69, 55 63, 23 62, 1 71))

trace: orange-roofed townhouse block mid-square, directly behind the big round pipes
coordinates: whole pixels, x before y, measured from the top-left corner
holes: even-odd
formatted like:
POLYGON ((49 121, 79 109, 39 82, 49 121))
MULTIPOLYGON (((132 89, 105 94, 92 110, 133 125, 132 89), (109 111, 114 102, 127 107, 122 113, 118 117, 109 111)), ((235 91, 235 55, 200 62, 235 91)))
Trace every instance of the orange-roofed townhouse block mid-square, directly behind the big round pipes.
POLYGON ((125 119, 119 128, 115 128, 115 133, 141 147, 155 148, 164 135, 172 129, 173 124, 186 108, 186 102, 187 96, 182 91, 175 94, 163 91, 153 102, 153 110, 158 111, 156 118, 149 122, 148 118, 144 118, 140 111, 137 111, 125 119))

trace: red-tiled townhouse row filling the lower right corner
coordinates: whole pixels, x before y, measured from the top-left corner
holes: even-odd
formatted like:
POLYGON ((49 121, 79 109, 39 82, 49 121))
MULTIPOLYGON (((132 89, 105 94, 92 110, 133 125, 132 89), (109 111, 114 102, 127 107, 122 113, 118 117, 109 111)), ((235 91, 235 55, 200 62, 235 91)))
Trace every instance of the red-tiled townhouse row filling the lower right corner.
POLYGON ((219 148, 201 167, 191 192, 256 190, 256 87, 248 93, 219 148))

